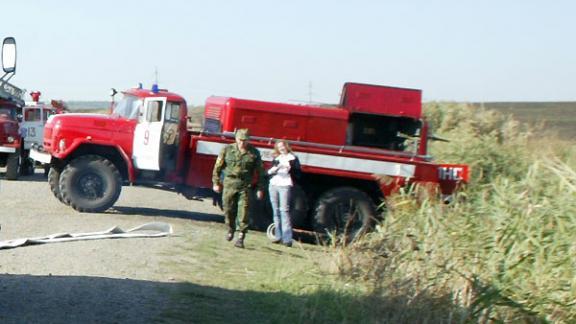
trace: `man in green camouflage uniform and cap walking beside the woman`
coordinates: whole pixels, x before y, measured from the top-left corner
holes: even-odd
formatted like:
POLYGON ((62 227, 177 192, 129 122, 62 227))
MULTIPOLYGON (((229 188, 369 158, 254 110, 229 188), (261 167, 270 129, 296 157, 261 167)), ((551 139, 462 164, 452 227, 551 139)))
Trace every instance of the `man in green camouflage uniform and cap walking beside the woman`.
POLYGON ((236 231, 236 219, 239 221, 240 235, 234 246, 243 248, 244 238, 248 231, 248 208, 252 180, 258 179, 256 196, 264 197, 265 173, 262 167, 260 152, 248 144, 249 134, 247 129, 236 131, 236 143, 226 145, 216 160, 212 173, 213 190, 221 192, 224 206, 224 217, 228 225, 226 240, 232 241, 236 231), (224 174, 224 181, 221 175, 224 174), (223 186, 222 186, 223 184, 223 186))

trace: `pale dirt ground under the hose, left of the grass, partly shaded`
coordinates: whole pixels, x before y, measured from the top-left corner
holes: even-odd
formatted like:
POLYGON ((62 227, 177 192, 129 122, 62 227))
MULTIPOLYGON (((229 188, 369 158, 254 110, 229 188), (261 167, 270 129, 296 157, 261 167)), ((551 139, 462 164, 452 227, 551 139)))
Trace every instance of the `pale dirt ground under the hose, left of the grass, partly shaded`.
MULTIPOLYGON (((3 170, 2 170, 3 171, 3 170)), ((174 235, 54 243, 0 250, 1 323, 145 323, 158 319, 180 281, 165 264, 209 233, 224 233, 211 201, 124 187, 114 209, 81 214, 56 200, 37 171, 0 175, 0 240, 170 223, 174 235)))

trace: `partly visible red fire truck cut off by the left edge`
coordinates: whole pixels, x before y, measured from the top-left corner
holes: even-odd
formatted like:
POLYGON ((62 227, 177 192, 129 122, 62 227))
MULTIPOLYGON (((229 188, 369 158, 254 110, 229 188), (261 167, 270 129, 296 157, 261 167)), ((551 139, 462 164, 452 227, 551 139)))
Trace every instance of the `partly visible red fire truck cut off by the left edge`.
POLYGON ((16 73, 16 41, 6 37, 2 43, 0 78, 0 166, 6 167, 6 179, 16 180, 21 159, 22 138, 18 118, 24 106, 24 91, 8 81, 16 73))

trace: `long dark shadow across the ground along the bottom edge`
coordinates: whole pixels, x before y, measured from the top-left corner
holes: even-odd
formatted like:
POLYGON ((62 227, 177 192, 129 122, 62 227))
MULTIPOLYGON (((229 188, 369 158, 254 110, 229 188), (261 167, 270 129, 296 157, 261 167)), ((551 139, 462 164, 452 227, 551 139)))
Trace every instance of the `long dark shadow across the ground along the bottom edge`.
MULTIPOLYGON (((276 290, 276 289, 274 289, 276 290)), ((449 297, 419 309, 406 296, 383 300, 315 290, 231 290, 182 282, 85 276, 0 275, 2 323, 334 323, 446 321, 465 314, 449 297)))

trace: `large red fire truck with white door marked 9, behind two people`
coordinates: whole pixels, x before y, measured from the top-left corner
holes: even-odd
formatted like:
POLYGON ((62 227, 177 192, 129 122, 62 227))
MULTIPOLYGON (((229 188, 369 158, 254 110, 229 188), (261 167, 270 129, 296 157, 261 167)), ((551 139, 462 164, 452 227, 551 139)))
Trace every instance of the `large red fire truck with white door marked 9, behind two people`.
MULTIPOLYGON (((124 92, 110 115, 64 114, 48 120, 32 158, 50 163, 50 188, 80 212, 102 212, 122 185, 172 190, 189 199, 212 195, 212 168, 234 131, 272 160, 275 139, 287 139, 302 164, 293 223, 317 232, 356 234, 377 219, 382 199, 411 183, 444 197, 468 179, 468 167, 436 164, 422 119, 421 91, 347 83, 334 106, 210 97, 204 126, 187 129, 184 98, 158 89, 124 92)), ((270 222, 267 200, 254 204, 256 225, 270 222)))

